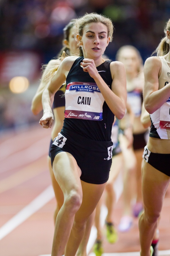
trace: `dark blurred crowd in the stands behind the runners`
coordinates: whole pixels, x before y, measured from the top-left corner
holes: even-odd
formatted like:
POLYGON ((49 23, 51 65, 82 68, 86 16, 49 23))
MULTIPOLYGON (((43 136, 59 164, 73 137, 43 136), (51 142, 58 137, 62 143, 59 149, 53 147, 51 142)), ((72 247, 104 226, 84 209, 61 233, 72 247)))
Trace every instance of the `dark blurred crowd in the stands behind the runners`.
POLYGON ((105 52, 110 59, 115 60, 117 50, 129 44, 140 51, 145 62, 163 36, 163 27, 169 19, 170 1, 1 0, 0 131, 39 120, 39 116, 31 113, 30 106, 39 85, 41 64, 48 63, 61 49, 63 28, 69 20, 86 12, 101 13, 112 19, 114 38, 105 52), (18 56, 25 52, 36 54, 39 63, 32 61, 29 67, 25 67, 17 57, 12 62, 10 57, 14 52, 18 56), (12 63, 13 73, 11 67, 9 69, 9 62, 12 63), (29 72, 26 72, 29 88, 23 93, 13 94, 9 90, 10 75, 22 75, 24 68, 32 69, 36 74, 27 75, 29 72))

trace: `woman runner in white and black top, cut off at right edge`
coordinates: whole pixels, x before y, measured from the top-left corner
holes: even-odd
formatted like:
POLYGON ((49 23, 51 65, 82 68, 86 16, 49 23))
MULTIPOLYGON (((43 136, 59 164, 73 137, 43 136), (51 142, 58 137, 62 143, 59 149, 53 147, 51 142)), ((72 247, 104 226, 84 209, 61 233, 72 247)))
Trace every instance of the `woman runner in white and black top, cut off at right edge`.
POLYGON ((144 65, 143 96, 145 109, 151 117, 151 129, 142 166, 144 212, 139 218, 141 256, 153 253, 151 243, 170 182, 170 19, 164 32, 165 37, 155 51, 157 56, 149 57, 144 65))

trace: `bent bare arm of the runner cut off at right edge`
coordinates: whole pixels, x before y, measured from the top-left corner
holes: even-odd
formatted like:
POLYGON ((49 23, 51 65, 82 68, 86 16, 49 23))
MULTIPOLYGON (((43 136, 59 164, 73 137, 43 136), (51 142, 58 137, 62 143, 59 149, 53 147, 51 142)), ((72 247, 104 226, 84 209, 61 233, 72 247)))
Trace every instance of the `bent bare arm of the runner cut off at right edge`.
POLYGON ((162 63, 159 57, 149 57, 145 61, 143 98, 145 109, 150 114, 158 110, 170 97, 170 83, 158 90, 161 69, 162 63))

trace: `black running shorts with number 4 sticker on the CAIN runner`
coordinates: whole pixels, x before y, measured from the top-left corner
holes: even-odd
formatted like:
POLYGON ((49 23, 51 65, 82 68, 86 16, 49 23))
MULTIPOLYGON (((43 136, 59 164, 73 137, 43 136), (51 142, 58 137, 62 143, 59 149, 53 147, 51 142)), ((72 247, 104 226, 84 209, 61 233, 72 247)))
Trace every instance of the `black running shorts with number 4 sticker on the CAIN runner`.
POLYGON ((109 179, 112 164, 112 141, 93 141, 69 131, 63 131, 54 139, 51 146, 51 164, 59 152, 72 154, 81 169, 82 181, 103 184, 109 179))

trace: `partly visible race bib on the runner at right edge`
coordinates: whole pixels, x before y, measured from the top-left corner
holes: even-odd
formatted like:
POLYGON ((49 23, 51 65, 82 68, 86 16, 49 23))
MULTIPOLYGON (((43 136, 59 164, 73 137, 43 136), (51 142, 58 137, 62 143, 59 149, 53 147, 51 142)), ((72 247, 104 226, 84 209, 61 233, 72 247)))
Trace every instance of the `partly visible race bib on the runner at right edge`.
POLYGON ((170 129, 170 98, 160 108, 160 128, 170 129))

